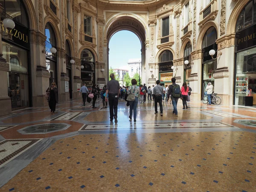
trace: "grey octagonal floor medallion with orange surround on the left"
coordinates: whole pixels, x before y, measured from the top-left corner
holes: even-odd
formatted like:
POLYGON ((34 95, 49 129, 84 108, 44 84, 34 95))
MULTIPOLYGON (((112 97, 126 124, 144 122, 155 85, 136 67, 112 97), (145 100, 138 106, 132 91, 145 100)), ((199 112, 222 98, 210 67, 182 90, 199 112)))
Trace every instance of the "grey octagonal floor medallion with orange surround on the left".
POLYGON ((18 130, 18 132, 20 134, 48 134, 56 131, 66 130, 70 126, 71 125, 68 125, 66 123, 46 123, 27 126, 18 130))

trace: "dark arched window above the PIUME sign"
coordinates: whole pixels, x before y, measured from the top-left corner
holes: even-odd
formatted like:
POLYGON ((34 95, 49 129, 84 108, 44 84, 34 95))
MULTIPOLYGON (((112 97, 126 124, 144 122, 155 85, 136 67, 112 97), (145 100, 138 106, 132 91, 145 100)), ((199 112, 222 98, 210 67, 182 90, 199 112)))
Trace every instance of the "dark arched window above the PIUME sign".
POLYGON ((236 23, 236 32, 253 23, 256 23, 256 0, 251 0, 241 11, 236 23))

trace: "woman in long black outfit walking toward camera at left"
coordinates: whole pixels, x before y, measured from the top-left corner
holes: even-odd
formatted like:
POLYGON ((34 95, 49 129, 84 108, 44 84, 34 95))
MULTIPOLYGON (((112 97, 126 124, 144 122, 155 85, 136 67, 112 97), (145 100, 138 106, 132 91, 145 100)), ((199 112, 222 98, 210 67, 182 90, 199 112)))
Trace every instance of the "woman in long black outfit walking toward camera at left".
POLYGON ((47 101, 49 103, 49 108, 51 109, 51 114, 54 115, 56 111, 56 103, 58 103, 58 89, 55 82, 52 82, 51 87, 48 87, 46 94, 48 96, 47 101))

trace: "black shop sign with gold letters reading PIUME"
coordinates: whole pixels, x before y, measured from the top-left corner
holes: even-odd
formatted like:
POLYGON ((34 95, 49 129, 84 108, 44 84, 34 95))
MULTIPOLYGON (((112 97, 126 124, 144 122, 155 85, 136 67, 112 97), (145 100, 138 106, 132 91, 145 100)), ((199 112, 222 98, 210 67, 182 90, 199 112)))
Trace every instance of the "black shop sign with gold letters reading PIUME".
POLYGON ((236 50, 247 49, 256 45, 256 25, 236 33, 236 50))

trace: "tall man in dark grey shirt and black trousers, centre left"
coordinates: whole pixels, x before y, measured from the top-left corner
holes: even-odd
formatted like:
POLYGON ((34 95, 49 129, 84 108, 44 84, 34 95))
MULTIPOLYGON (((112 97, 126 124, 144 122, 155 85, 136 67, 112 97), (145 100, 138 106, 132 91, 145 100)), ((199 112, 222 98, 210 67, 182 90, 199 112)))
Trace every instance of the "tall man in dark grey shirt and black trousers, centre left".
POLYGON ((120 85, 119 82, 115 80, 115 75, 113 73, 110 74, 111 80, 108 81, 106 87, 106 102, 108 101, 109 105, 109 113, 110 113, 110 122, 113 123, 113 119, 115 119, 115 123, 117 123, 117 106, 118 106, 118 96, 120 94, 120 85), (107 98, 108 97, 108 98, 107 98))

